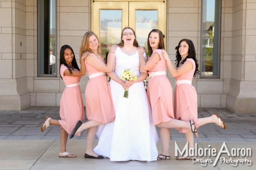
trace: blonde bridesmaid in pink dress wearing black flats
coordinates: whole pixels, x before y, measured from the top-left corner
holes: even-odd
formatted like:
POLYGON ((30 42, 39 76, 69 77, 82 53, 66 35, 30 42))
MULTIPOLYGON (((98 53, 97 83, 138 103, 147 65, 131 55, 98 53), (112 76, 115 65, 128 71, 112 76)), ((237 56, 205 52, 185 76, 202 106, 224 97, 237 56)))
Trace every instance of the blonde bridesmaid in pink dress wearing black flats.
MULTIPOLYGON (((84 34, 79 55, 85 52, 91 53, 85 58, 86 71, 89 75, 85 89, 85 106, 88 121, 82 123, 82 121, 79 120, 70 135, 70 139, 74 135, 88 129, 84 157, 103 159, 102 156, 97 155, 93 151, 93 141, 97 126, 115 120, 111 90, 106 77, 106 72, 110 72, 112 67, 108 64, 106 65, 105 61, 100 56, 101 51, 97 35, 91 31, 84 34)), ((109 60, 109 63, 112 62, 113 58, 109 60)))

